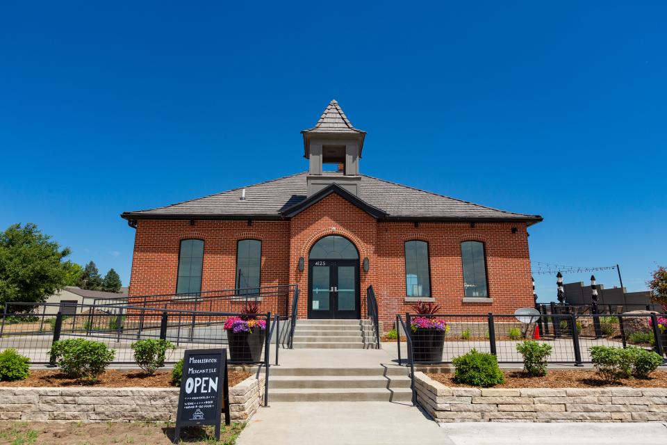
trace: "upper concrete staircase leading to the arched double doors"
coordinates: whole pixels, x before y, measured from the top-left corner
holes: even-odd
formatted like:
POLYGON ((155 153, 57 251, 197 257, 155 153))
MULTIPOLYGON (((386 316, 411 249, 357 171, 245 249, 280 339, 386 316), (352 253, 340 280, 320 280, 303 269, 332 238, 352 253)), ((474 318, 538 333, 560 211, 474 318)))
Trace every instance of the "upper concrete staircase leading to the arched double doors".
POLYGON ((299 320, 294 331, 295 348, 374 349, 370 320, 299 320))

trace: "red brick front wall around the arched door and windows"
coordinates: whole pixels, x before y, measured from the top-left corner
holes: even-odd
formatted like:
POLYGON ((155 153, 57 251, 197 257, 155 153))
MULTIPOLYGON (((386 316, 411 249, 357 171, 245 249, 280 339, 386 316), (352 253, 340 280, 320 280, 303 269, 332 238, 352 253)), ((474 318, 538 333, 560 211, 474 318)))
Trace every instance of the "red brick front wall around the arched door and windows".
POLYGON ((429 243, 431 294, 445 313, 495 312, 511 314, 532 307, 532 282, 525 223, 413 223, 377 222, 338 195, 329 195, 290 221, 140 220, 136 228, 130 295, 174 293, 181 239, 204 240, 202 291, 232 289, 236 269, 236 241, 262 241, 261 285, 298 284, 299 316, 308 301, 308 252, 322 236, 349 238, 368 257, 370 270, 360 270, 361 314, 365 289, 374 286, 384 330, 395 314, 409 310, 405 301, 404 243, 429 243), (517 227, 516 234, 511 228, 517 227), (489 296, 493 303, 463 302, 461 241, 482 241, 486 250, 489 296), (304 257, 306 268, 298 270, 304 257))

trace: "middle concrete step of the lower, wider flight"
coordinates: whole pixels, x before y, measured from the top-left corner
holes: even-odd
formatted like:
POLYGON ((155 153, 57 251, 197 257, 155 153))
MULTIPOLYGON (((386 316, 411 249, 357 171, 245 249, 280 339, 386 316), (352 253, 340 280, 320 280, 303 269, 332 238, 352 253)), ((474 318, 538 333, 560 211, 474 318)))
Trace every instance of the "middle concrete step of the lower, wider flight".
POLYGON ((270 389, 354 389, 354 388, 409 388, 410 378, 407 375, 277 375, 269 379, 270 389))

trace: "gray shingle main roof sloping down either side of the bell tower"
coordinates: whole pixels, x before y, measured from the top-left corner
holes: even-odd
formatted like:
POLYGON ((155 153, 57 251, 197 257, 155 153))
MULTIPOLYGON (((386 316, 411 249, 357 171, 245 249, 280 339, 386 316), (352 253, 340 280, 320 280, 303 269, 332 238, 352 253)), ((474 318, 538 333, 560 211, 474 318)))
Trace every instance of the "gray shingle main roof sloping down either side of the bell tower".
MULTIPOLYGON (((283 218, 281 211, 306 199, 306 176, 298 173, 245 187, 217 193, 166 207, 122 214, 133 219, 246 219, 283 218)), ((327 173, 331 175, 331 173, 327 173)), ((408 220, 517 220, 529 224, 542 220, 538 215, 513 213, 452 197, 436 195, 383 179, 361 175, 360 198, 387 213, 386 219, 408 220)))

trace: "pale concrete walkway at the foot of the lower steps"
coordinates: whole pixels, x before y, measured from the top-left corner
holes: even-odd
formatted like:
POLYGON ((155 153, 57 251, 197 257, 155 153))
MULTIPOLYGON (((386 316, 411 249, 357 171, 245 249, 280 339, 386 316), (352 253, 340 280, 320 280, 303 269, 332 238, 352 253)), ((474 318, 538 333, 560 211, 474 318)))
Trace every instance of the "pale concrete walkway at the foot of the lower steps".
POLYGON ((237 445, 454 444, 410 403, 271 403, 260 408, 237 445))

